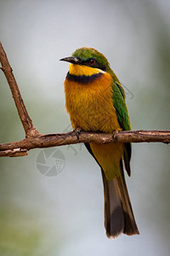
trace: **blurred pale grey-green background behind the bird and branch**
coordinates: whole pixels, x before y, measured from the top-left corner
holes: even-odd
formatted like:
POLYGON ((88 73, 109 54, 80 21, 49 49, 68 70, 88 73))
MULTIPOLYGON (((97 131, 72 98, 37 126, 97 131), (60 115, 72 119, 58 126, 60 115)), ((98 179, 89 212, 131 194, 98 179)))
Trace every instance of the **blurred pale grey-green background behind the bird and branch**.
MULTIPOLYGON (((59 59, 82 46, 104 53, 125 85, 133 130, 169 129, 169 10, 167 0, 1 0, 0 40, 37 130, 71 131, 59 59)), ((2 72, 0 89, 0 142, 20 140, 2 72)), ((99 167, 82 145, 57 149, 65 166, 54 177, 37 169, 42 149, 0 159, 0 255, 169 255, 168 145, 133 144, 127 185, 140 235, 116 240, 105 236, 99 167)), ((50 150, 44 165, 54 166, 50 150)))

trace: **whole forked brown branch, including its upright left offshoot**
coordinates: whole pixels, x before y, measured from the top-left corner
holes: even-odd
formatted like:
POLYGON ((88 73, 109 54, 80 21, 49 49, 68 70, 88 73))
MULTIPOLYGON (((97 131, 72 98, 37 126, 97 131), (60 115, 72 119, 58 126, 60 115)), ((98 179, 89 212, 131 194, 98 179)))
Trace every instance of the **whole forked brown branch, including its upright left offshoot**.
POLYGON ((0 144, 0 156, 23 156, 33 148, 49 148, 76 143, 170 143, 170 131, 116 131, 114 134, 76 131, 60 134, 40 134, 32 124, 26 106, 14 79, 7 55, 0 43, 1 69, 8 81, 20 120, 26 132, 26 138, 14 143, 0 144))

